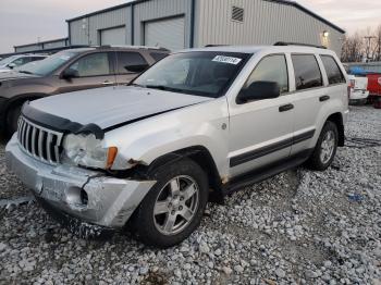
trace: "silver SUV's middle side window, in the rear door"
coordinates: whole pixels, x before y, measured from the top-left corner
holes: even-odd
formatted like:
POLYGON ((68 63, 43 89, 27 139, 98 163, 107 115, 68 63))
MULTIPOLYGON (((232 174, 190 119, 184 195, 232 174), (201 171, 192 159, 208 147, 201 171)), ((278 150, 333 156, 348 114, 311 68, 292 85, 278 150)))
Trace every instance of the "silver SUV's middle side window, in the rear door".
POLYGON ((293 54, 296 90, 319 87, 323 79, 314 54, 293 54))

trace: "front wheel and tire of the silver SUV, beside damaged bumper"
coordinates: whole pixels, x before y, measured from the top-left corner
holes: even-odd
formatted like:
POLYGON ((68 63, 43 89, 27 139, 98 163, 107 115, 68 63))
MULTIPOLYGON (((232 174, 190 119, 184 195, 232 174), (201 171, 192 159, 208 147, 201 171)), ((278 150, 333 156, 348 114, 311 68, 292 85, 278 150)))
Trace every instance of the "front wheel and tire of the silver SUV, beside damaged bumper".
POLYGON ((148 246, 180 244, 199 225, 208 201, 208 177, 189 159, 159 166, 150 189, 132 218, 136 238, 148 246))

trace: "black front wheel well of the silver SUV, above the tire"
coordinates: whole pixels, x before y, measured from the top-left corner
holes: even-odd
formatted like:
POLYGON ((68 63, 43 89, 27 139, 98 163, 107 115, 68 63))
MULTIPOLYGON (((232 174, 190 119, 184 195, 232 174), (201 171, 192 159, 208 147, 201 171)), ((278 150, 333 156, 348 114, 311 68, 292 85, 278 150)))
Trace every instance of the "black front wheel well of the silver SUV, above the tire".
POLYGON ((213 202, 222 202, 222 183, 219 172, 209 150, 202 146, 184 148, 164 154, 156 159, 151 164, 149 164, 148 169, 146 170, 146 173, 149 175, 151 170, 163 166, 182 158, 192 159, 205 171, 205 173, 207 173, 209 187, 211 190, 209 193, 209 200, 213 202))

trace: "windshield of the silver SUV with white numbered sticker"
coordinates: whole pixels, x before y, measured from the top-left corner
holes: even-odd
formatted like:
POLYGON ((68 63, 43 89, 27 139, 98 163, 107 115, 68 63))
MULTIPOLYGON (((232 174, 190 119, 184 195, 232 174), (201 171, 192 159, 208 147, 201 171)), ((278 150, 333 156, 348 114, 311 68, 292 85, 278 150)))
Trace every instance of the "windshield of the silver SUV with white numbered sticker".
POLYGON ((217 98, 235 79, 247 53, 195 51, 169 55, 132 85, 217 98))

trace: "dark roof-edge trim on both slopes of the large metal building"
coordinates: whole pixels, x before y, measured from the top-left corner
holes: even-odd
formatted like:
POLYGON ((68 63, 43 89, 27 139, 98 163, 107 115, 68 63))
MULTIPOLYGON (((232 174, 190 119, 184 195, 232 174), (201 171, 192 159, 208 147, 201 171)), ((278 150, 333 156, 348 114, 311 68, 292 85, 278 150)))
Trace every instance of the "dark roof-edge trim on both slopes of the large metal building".
MULTIPOLYGON (((97 15, 97 14, 114 11, 114 10, 122 9, 122 8, 125 8, 125 7, 135 5, 135 4, 142 3, 142 2, 146 2, 146 1, 149 1, 149 0, 134 0, 134 1, 131 1, 131 2, 127 2, 127 3, 124 3, 124 4, 110 7, 110 8, 103 9, 103 10, 98 10, 98 11, 95 11, 95 12, 91 12, 91 13, 87 13, 87 14, 84 14, 84 15, 81 15, 81 16, 77 16, 77 17, 73 17, 73 18, 66 20, 66 22, 67 23, 69 22, 73 22, 73 21, 76 21, 76 20, 81 20, 81 18, 93 16, 93 15, 97 15)), ((342 29, 341 27, 339 27, 335 24, 331 23, 330 21, 323 18, 322 16, 319 16, 318 14, 314 13, 312 11, 308 10, 307 8, 305 8, 304 5, 300 5, 299 3, 295 2, 295 1, 291 1, 291 0, 262 0, 262 1, 275 2, 275 3, 280 3, 280 4, 295 7, 296 9, 305 12, 306 14, 308 14, 308 15, 319 20, 320 22, 331 26, 332 28, 336 29, 337 32, 340 32, 342 34, 345 34, 345 30, 342 29)))

